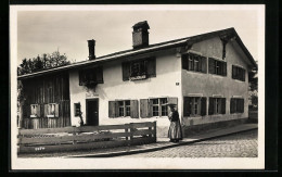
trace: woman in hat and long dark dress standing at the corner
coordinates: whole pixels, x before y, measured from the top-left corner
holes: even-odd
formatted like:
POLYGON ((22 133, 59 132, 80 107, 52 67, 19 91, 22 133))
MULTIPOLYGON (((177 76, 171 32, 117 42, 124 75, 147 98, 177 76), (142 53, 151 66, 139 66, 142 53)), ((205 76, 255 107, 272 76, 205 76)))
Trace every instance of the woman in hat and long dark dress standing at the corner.
POLYGON ((168 119, 170 121, 170 126, 168 129, 168 138, 170 138, 171 142, 178 142, 182 140, 182 130, 179 119, 179 114, 175 110, 176 104, 167 104, 168 105, 168 119))

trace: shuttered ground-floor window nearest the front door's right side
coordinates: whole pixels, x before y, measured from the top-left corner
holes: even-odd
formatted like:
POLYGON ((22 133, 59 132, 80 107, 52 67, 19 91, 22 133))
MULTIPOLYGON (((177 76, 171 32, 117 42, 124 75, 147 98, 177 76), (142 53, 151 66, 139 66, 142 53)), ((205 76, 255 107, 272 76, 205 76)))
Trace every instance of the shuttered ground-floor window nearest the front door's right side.
POLYGON ((108 117, 139 117, 138 100, 108 101, 108 117))

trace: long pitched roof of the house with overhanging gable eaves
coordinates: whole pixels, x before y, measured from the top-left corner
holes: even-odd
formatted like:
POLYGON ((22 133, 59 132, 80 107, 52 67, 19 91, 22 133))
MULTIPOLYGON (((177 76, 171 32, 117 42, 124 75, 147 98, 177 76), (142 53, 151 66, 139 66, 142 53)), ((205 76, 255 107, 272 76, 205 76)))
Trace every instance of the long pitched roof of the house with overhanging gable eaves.
POLYGON ((81 62, 72 63, 69 65, 53 67, 53 68, 49 68, 49 69, 43 69, 40 72, 30 73, 30 74, 25 74, 25 75, 17 76, 17 79, 25 79, 25 78, 40 76, 40 75, 54 73, 54 72, 59 72, 59 71, 82 67, 82 66, 87 66, 87 65, 94 64, 94 63, 101 63, 101 62, 116 60, 116 59, 120 59, 120 58, 125 58, 125 56, 133 56, 133 55, 138 55, 138 54, 159 51, 159 50, 164 50, 164 49, 170 49, 170 48, 175 48, 175 47, 190 46, 190 45, 193 45, 193 43, 206 40, 206 39, 214 38, 219 35, 234 36, 235 40, 242 48, 243 52, 246 54, 246 56, 249 60, 249 62, 252 63, 252 65, 255 68, 257 68, 257 64, 256 64, 255 60, 253 59, 252 54, 248 52, 248 50, 242 42, 241 38, 238 36, 235 29, 227 28, 227 29, 216 30, 216 31, 196 35, 196 36, 192 36, 192 37, 185 37, 185 38, 169 40, 169 41, 165 41, 165 42, 161 42, 161 43, 150 45, 150 46, 141 48, 141 49, 124 50, 124 51, 111 53, 107 55, 99 56, 95 60, 81 61, 81 62))

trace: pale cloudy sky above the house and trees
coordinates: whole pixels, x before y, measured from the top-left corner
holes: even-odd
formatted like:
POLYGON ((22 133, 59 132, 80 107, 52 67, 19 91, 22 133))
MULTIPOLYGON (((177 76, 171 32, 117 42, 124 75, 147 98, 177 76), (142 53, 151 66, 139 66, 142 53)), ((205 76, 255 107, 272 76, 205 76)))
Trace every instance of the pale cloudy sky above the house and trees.
POLYGON ((18 11, 17 62, 59 50, 73 62, 88 59, 87 40, 95 40, 95 55, 132 49, 132 26, 150 25, 150 45, 234 27, 257 59, 259 16, 257 11, 169 9, 18 11))

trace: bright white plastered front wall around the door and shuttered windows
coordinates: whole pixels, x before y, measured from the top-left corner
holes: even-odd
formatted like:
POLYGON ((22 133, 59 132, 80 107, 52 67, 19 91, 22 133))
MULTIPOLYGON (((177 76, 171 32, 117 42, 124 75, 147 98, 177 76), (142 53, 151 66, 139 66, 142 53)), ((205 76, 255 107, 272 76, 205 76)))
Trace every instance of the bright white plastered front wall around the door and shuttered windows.
MULTIPOLYGON (((84 119, 86 121, 86 99, 99 98, 99 124, 115 125, 134 122, 157 122, 157 127, 163 127, 163 136, 169 126, 167 116, 152 118, 108 117, 108 101, 116 99, 140 100, 159 97, 177 97, 181 105, 181 87, 176 86, 181 78, 181 58, 176 55, 176 50, 156 53, 156 77, 144 80, 123 81, 121 61, 105 63, 103 65, 104 84, 99 84, 95 91, 79 86, 78 69, 69 72, 70 91, 70 119, 72 125, 79 125, 79 117, 74 116, 74 103, 80 102, 84 119), (91 96, 90 96, 91 94, 91 96)), ((140 108, 140 106, 139 106, 140 108)), ((180 106, 179 106, 180 108, 180 106)), ((181 112, 179 110, 179 112, 181 112)), ((140 116, 140 114, 139 114, 140 116)))

